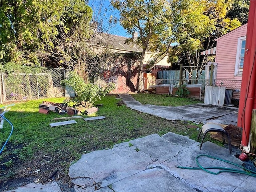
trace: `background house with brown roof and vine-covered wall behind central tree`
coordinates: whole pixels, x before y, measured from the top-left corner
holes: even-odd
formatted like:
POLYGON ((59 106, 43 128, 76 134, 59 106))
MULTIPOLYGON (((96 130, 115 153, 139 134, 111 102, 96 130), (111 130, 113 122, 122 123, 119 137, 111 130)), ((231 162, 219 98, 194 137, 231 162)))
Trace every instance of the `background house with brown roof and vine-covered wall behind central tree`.
MULTIPOLYGON (((136 34, 133 35, 136 38, 136 34)), ((97 79, 98 85, 103 85, 106 82, 114 82, 116 89, 110 93, 128 93, 136 90, 138 65, 140 52, 142 48, 132 43, 125 43, 128 38, 116 36, 112 34, 99 33, 90 42, 90 46, 94 51, 114 55, 122 54, 124 57, 119 60, 106 62, 100 66, 101 74, 97 79), (136 57, 137 55, 137 57, 136 57), (133 57, 135 56, 135 57, 133 57)), ((143 66, 146 69, 147 64, 156 53, 146 51, 143 66)), ((155 79, 159 70, 166 69, 170 66, 167 62, 167 57, 158 62, 152 70, 144 72, 144 82, 147 87, 147 79, 155 79)))

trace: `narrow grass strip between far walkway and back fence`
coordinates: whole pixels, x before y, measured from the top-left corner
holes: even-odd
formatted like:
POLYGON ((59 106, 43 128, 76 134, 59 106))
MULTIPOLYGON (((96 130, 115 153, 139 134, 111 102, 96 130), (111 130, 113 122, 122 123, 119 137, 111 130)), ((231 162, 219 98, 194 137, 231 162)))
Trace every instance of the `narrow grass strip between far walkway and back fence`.
POLYGON ((131 95, 135 100, 139 101, 141 104, 151 104, 159 106, 182 106, 188 104, 196 104, 202 101, 194 98, 179 98, 175 96, 161 95, 161 94, 148 94, 139 93, 131 95))

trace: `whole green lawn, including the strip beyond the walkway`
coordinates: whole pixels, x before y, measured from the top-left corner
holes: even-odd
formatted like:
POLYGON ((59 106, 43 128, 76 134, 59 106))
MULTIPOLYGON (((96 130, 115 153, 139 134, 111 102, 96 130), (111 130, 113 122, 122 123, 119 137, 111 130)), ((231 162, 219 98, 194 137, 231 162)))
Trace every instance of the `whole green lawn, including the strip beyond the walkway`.
MULTIPOLYGON (((140 102, 142 102, 140 98, 144 96, 145 103, 153 104, 152 101, 157 101, 161 105, 169 103, 177 106, 196 102, 154 94, 132 96, 140 102)), ((112 148, 116 143, 154 133, 162 136, 167 132, 174 132, 194 140, 198 135, 197 129, 186 127, 193 122, 168 121, 131 110, 122 103, 122 100, 117 100, 116 95, 107 95, 96 103, 102 103, 103 106, 91 116, 105 116, 104 120, 84 121, 82 118, 76 118, 76 124, 50 127, 49 123, 61 121, 52 120, 53 118, 62 116, 54 112, 48 115, 38 113, 38 106, 43 100, 60 103, 64 98, 16 103, 5 114, 5 117, 12 122, 14 131, 1 154, 1 182, 19 177, 38 177, 38 173, 31 171, 38 169, 41 170, 39 174, 43 182, 56 168, 59 170, 60 179, 68 180, 70 162, 78 160, 84 153, 112 148)), ((202 124, 199 124, 198 128, 201 126, 202 124)), ((11 126, 4 122, 4 128, 0 130, 1 147, 8 138, 10 130, 11 126)))

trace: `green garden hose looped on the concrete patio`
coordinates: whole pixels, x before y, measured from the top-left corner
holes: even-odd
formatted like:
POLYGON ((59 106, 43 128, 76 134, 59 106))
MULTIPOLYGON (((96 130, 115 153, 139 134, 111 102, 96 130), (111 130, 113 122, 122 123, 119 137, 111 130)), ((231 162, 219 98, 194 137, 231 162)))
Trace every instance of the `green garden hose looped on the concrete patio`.
POLYGON ((202 170, 204 170, 204 171, 206 171, 206 172, 208 172, 210 174, 214 174, 214 175, 218 175, 218 174, 220 174, 222 172, 231 172, 231 173, 241 173, 241 174, 246 174, 246 175, 249 175, 249 176, 256 177, 256 172, 253 171, 253 170, 250 170, 248 168, 244 168, 243 166, 240 166, 238 164, 235 164, 235 163, 232 163, 230 161, 227 161, 227 160, 224 160, 224 159, 220 159, 220 158, 217 158, 217 157, 213 157, 213 156, 210 156, 210 155, 198 155, 198 156, 196 156, 196 164, 198 165, 198 167, 182 167, 182 166, 177 166, 177 167, 178 168, 182 168, 182 169, 193 169, 193 170, 202 169, 202 170), (225 167, 202 167, 200 165, 199 161, 198 161, 198 158, 201 157, 201 156, 206 156, 208 158, 220 160, 220 161, 232 164, 234 166, 237 166, 239 168, 242 168, 243 170, 232 169, 232 168, 225 168, 225 167), (220 171, 212 172, 212 171, 209 171, 208 169, 220 169, 220 171))

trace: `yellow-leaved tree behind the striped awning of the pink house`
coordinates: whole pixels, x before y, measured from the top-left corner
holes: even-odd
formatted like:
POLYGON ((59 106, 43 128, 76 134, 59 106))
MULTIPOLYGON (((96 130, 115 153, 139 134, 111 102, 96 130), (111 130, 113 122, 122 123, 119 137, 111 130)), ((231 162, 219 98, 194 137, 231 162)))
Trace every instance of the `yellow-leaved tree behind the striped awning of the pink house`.
POLYGON ((231 0, 187 1, 188 16, 179 28, 177 45, 170 50, 169 60, 191 66, 192 71, 202 70, 203 66, 211 61, 212 57, 201 56, 202 50, 216 46, 215 39, 240 26, 240 22, 226 16, 231 8, 231 0), (190 18, 196 17, 198 21, 191 22, 190 18), (198 67, 200 66, 200 67, 198 67))

